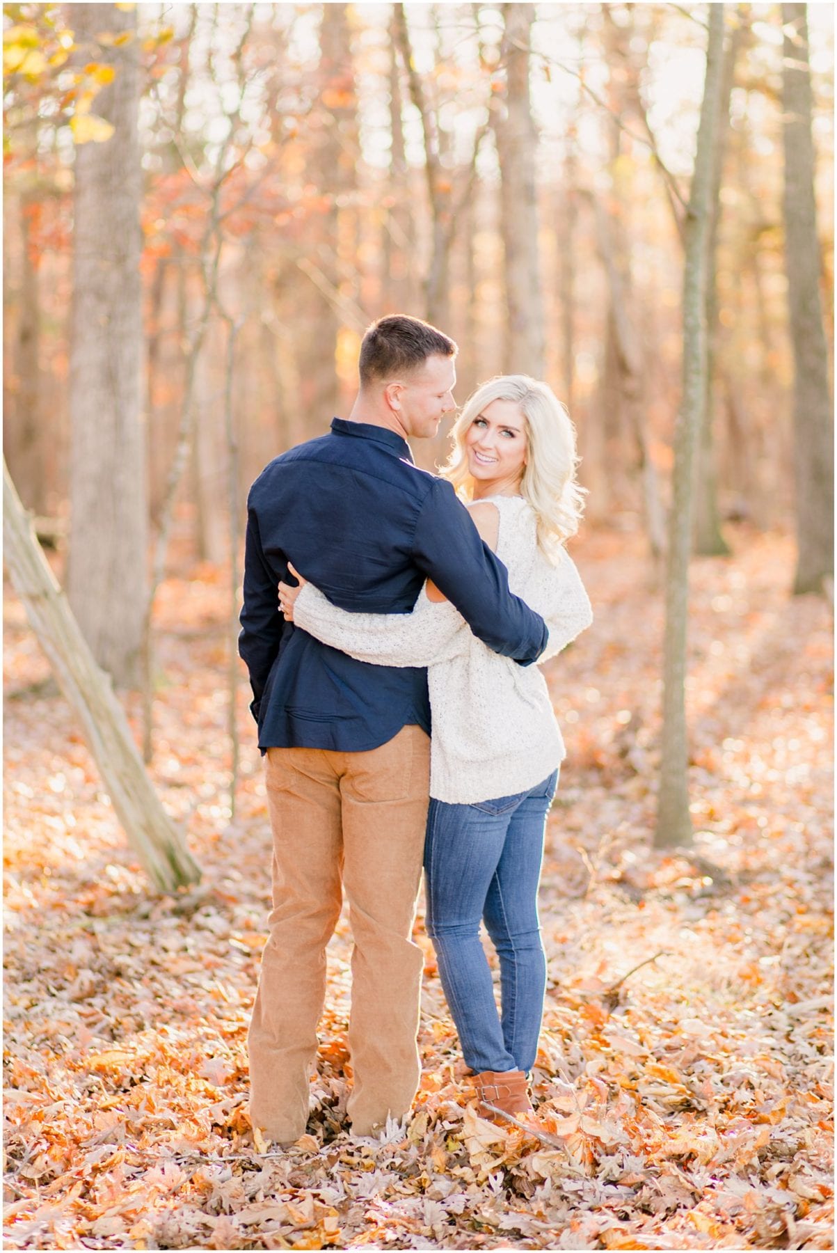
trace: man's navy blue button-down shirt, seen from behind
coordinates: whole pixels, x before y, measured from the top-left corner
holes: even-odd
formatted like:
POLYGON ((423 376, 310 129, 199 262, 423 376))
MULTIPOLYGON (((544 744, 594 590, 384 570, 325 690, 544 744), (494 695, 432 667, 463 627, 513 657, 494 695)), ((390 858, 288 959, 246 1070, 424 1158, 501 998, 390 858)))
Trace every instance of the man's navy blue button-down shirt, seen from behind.
POLYGON ((408 613, 430 578, 495 652, 529 664, 544 650, 543 619, 511 595, 451 485, 418 470, 395 431, 336 417, 271 461, 247 510, 239 653, 262 751, 362 752, 408 723, 430 732, 426 669, 357 662, 284 621, 288 560, 355 611, 408 613))

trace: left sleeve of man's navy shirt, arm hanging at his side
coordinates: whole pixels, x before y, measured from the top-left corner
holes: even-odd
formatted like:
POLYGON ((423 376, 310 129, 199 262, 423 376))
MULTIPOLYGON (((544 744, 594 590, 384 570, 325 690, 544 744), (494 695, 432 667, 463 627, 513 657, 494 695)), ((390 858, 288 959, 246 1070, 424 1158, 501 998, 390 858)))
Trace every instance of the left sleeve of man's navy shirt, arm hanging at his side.
POLYGON ((279 655, 284 619, 279 613, 278 579, 273 575, 262 550, 256 511, 247 512, 244 543, 244 604, 239 618, 238 653, 249 670, 253 700, 251 712, 258 712, 271 668, 279 655))

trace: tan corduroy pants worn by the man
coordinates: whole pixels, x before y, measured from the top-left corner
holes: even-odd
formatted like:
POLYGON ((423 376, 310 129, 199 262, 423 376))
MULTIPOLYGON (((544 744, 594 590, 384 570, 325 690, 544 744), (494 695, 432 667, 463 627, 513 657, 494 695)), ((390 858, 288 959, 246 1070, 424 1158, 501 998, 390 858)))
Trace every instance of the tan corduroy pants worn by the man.
POLYGON ((348 1115, 368 1135, 408 1111, 420 1079, 422 955, 411 933, 430 739, 410 725, 363 753, 271 748, 266 769, 273 910, 248 1037, 251 1118, 278 1143, 304 1131, 326 945, 345 887, 355 941, 348 1115))

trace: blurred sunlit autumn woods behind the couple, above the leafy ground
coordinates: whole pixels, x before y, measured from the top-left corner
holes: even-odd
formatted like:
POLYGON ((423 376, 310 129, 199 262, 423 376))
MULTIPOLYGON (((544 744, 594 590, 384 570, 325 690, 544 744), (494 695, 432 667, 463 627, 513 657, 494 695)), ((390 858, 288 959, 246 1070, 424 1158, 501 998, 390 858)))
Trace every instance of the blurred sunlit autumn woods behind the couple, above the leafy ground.
MULTIPOLYGON (((725 8, 703 551, 723 550, 725 519, 791 525, 794 500, 788 33, 776 5, 725 8)), ((80 549, 107 543, 103 485, 123 484, 110 520, 123 529, 135 605, 144 563, 129 551, 148 526, 159 533, 174 505, 194 553, 224 560, 231 502, 241 511, 271 457, 346 413, 363 328, 392 311, 459 341, 460 402, 499 370, 548 378, 578 426, 589 523, 644 517, 652 546, 663 544, 707 9, 5 13, 6 459, 24 504, 61 534, 74 501, 80 549), (123 167, 98 170, 114 123, 123 167), (79 286, 95 293, 96 264, 112 254, 142 276, 142 292, 118 278, 120 322, 109 326, 109 355, 123 353, 119 372, 137 378, 119 397, 120 435, 105 440, 115 465, 94 474, 84 452, 74 460, 73 440, 101 459, 114 398, 73 336, 90 335, 79 286), (125 306, 140 297, 134 317, 125 306), (135 341, 133 356, 114 335, 135 341), (142 520, 120 523, 140 509, 142 520), (93 533, 80 516, 90 510, 93 533)), ((809 5, 808 23, 831 343, 831 6, 809 5)), ((442 460, 444 432, 416 454, 426 466, 442 460)), ((81 554, 78 565, 90 599, 81 554)), ((71 570, 70 595, 78 611, 71 570)), ((120 634, 130 649, 137 628, 120 634)), ((124 658, 114 668, 132 669, 124 658)))

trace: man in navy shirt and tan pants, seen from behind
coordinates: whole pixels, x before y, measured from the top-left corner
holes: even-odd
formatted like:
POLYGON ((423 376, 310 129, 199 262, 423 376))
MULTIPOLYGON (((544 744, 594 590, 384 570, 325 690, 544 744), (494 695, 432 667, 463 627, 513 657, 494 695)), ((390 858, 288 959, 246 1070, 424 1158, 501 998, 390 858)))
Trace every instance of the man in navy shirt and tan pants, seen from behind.
POLYGON ((521 664, 543 619, 509 591, 450 484, 416 469, 407 437, 454 408, 456 345, 401 315, 361 345, 348 420, 272 461, 248 500, 239 652, 267 754, 273 910, 249 1027, 251 1118, 293 1143, 326 992, 325 950, 350 902, 352 1130, 412 1104, 422 957, 412 942, 430 777, 424 669, 368 665, 286 623, 288 561, 343 609, 408 613, 431 578, 490 648, 521 664))

